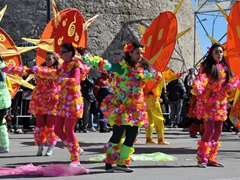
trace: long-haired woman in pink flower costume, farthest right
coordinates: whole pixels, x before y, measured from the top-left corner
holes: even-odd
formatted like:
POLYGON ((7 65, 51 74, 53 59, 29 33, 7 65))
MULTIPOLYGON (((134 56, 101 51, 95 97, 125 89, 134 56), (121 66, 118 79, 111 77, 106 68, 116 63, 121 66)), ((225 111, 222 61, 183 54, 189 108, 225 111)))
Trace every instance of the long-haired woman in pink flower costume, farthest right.
POLYGON ((205 132, 198 142, 198 166, 223 167, 217 161, 223 121, 227 118, 227 96, 238 85, 238 77, 228 67, 219 44, 213 44, 194 80, 197 118, 204 120, 205 132))

